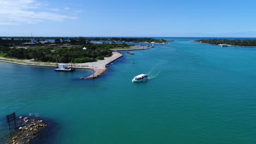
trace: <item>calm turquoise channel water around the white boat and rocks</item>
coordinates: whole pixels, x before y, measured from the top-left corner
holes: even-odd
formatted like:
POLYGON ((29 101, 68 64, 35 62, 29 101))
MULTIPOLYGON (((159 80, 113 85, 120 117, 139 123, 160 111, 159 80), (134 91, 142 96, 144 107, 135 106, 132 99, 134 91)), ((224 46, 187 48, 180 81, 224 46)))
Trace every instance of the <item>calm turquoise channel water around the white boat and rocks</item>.
POLYGON ((38 112, 58 126, 47 143, 256 143, 256 48, 170 39, 94 80, 1 62, 0 134, 8 113, 38 112))

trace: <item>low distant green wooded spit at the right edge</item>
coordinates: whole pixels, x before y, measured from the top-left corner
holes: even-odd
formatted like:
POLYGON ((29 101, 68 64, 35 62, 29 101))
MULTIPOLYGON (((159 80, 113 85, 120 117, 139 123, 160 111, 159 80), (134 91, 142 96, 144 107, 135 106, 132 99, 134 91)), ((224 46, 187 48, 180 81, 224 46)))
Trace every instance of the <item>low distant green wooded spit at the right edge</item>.
POLYGON ((197 43, 212 44, 212 45, 230 45, 230 46, 256 46, 256 39, 201 39, 195 40, 197 43))

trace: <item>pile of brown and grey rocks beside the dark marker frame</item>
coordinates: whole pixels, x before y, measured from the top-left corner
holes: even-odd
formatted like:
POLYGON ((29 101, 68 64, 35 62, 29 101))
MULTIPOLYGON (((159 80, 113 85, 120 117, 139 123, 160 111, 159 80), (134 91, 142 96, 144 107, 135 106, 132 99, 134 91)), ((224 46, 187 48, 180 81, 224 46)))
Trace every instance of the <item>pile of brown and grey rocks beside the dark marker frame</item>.
POLYGON ((42 119, 19 117, 20 127, 12 131, 9 135, 8 143, 21 144, 31 143, 36 139, 39 131, 48 126, 42 119))

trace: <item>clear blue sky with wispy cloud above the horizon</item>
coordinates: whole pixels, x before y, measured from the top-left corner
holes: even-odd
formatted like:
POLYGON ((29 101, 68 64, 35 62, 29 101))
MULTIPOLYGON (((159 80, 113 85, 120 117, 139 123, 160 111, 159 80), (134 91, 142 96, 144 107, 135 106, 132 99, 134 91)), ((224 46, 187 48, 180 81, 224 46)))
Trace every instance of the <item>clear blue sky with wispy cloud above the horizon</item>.
POLYGON ((255 6, 237 0, 0 0, 0 35, 255 38, 255 6))

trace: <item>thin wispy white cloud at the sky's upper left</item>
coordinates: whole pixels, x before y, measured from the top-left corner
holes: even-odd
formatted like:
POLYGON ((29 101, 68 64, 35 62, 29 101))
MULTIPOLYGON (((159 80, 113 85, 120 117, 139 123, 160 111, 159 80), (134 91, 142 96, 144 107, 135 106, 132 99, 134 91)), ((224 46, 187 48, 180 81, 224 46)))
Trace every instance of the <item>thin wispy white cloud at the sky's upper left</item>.
MULTIPOLYGON (((48 4, 35 0, 0 0, 0 25, 19 25, 20 23, 38 23, 44 21, 63 21, 78 17, 45 12, 48 4)), ((58 11, 51 9, 51 11, 58 11)))

